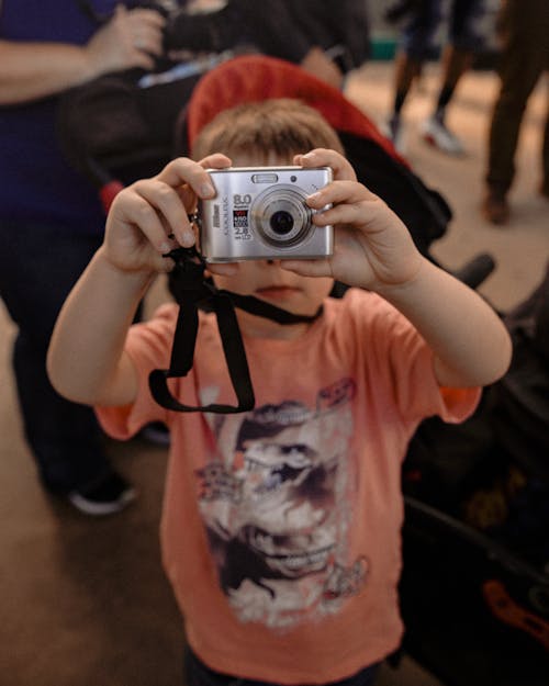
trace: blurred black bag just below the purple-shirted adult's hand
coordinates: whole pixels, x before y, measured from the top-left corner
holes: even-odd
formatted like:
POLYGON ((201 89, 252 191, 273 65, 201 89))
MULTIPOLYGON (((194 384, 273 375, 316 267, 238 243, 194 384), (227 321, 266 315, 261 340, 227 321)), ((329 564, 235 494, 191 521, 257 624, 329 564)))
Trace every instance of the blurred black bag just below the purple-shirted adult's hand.
POLYGON ((173 157, 181 109, 204 71, 231 55, 165 61, 72 88, 60 97, 57 135, 68 162, 96 187, 158 173, 173 157))

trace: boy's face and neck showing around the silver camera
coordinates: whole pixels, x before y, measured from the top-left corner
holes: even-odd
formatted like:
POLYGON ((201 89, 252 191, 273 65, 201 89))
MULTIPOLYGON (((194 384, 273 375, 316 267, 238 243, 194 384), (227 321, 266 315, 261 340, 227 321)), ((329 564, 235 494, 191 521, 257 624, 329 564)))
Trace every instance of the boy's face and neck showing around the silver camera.
MULTIPOLYGON (((233 158, 234 167, 292 165, 293 160, 272 157, 260 160, 254 157, 233 158)), ((242 295, 255 295, 293 314, 313 315, 329 294, 334 280, 330 277, 301 277, 280 267, 280 260, 250 260, 238 262, 237 273, 231 277, 214 274, 215 285, 242 295)), ((243 331, 251 336, 290 338, 298 336, 307 325, 281 325, 264 317, 237 311, 243 331)))

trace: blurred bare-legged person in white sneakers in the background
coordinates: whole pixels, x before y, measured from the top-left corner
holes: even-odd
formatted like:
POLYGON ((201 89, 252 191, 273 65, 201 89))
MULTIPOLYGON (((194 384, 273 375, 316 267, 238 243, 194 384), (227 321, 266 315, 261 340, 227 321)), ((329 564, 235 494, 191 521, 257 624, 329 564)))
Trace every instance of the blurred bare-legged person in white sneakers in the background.
MULTIPOLYGON (((444 19, 442 0, 401 0, 385 12, 385 19, 405 18, 395 58, 393 110, 382 126, 400 153, 405 151, 402 109, 425 61, 436 53, 437 33, 444 19)), ((448 42, 441 57, 438 97, 432 114, 421 124, 422 137, 448 155, 463 155, 461 140, 447 127, 446 113, 461 76, 471 67, 481 45, 477 23, 483 0, 452 0, 448 16, 448 42)))

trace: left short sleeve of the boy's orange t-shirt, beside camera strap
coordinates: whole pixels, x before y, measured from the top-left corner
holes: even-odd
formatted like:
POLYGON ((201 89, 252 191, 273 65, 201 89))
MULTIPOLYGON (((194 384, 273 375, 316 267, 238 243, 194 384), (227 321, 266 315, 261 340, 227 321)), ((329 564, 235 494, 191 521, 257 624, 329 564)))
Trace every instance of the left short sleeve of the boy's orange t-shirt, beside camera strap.
POLYGON ((131 405, 94 408, 101 427, 109 436, 125 440, 146 424, 168 423, 168 412, 150 394, 148 376, 154 369, 169 367, 175 322, 176 312, 170 304, 160 307, 150 322, 131 327, 124 351, 137 371, 137 395, 131 405))

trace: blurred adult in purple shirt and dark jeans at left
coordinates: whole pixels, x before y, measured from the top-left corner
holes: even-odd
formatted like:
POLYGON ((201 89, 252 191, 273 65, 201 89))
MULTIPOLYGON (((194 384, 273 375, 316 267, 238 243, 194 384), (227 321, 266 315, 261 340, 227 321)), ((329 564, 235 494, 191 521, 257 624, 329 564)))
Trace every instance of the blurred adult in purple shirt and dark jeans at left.
POLYGON ((104 227, 97 191, 61 156, 57 98, 107 72, 150 69, 164 23, 114 0, 0 0, 0 296, 19 327, 13 368, 41 482, 89 515, 119 511, 135 492, 92 411, 60 397, 45 370, 58 311, 104 227))

